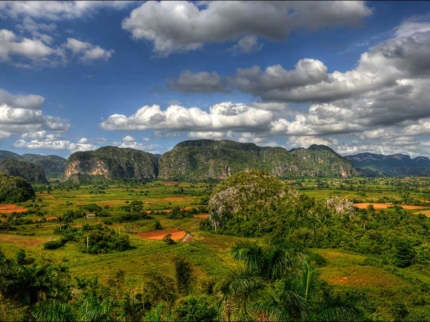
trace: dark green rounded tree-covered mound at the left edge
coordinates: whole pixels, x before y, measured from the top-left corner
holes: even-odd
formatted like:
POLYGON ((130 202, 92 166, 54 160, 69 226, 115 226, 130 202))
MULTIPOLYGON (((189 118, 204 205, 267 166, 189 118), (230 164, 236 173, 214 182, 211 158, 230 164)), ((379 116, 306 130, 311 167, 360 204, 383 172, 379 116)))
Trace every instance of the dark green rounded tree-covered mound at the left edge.
POLYGON ((33 197, 33 187, 27 181, 0 173, 0 203, 17 203, 33 197))

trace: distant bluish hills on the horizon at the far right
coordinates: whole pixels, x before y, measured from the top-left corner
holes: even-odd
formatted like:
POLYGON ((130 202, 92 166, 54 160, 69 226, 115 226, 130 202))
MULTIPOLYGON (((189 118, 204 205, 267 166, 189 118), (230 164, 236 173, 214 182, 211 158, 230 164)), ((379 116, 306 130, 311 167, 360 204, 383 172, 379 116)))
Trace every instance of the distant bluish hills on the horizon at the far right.
POLYGON ((345 157, 354 167, 382 172, 392 176, 428 176, 430 175, 430 160, 427 157, 411 158, 409 155, 383 155, 360 153, 345 157))

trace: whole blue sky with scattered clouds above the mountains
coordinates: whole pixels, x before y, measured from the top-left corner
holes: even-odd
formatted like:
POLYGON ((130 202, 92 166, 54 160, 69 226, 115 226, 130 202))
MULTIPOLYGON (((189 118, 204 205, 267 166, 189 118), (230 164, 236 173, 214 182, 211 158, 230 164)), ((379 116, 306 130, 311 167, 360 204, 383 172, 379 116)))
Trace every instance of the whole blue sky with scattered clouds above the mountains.
POLYGON ((2 1, 0 150, 430 156, 430 2, 2 1))

